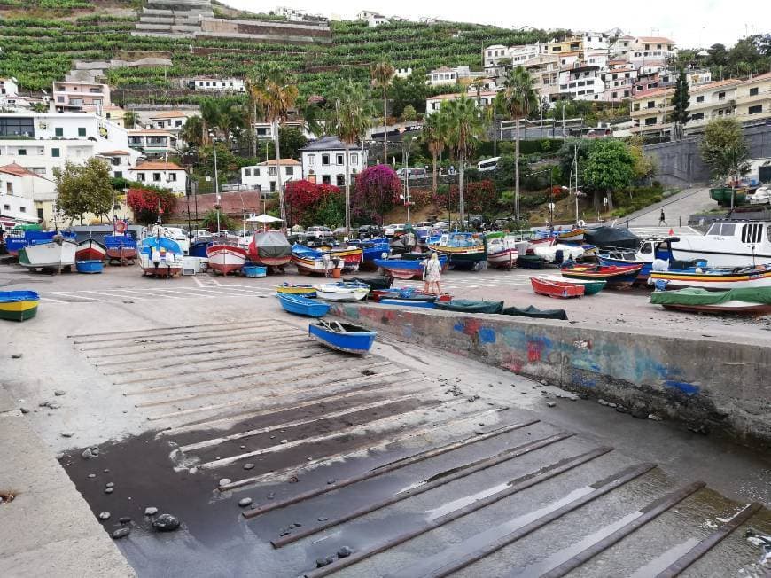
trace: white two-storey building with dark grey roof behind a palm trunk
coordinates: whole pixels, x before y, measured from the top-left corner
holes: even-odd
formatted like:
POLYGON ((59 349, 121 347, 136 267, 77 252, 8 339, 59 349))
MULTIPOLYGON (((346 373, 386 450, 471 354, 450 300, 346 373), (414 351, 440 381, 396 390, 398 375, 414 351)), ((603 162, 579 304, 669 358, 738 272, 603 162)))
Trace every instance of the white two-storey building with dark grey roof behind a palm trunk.
MULTIPOLYGON (((346 148, 338 137, 323 137, 300 149, 302 178, 318 184, 346 184, 346 148)), ((360 144, 350 147, 348 168, 351 176, 367 167, 367 151, 360 144)))

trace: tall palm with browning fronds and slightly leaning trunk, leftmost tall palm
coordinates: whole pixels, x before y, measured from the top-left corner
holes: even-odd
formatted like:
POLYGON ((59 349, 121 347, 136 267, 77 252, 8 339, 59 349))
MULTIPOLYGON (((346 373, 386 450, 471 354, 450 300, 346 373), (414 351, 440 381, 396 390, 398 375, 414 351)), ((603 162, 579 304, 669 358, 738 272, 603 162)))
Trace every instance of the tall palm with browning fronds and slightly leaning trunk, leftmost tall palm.
POLYGON ((251 75, 255 88, 254 102, 265 114, 265 120, 271 123, 273 131, 273 146, 276 151, 276 190, 281 218, 286 226, 286 206, 284 205, 284 189, 281 184, 281 153, 278 144, 278 127, 284 124, 289 111, 297 102, 297 81, 284 66, 275 62, 263 63, 254 67, 251 75))

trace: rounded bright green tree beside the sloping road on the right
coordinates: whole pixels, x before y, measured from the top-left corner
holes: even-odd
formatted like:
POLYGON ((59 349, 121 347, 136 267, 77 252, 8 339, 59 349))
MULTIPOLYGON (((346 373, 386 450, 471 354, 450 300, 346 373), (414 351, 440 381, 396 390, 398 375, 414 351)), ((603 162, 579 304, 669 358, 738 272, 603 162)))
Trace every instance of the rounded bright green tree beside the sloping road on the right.
POLYGON ((592 144, 584 165, 584 183, 595 191, 595 207, 603 206, 603 197, 608 199, 608 208, 613 209, 613 191, 623 189, 632 182, 635 159, 626 143, 611 138, 602 138, 592 144))

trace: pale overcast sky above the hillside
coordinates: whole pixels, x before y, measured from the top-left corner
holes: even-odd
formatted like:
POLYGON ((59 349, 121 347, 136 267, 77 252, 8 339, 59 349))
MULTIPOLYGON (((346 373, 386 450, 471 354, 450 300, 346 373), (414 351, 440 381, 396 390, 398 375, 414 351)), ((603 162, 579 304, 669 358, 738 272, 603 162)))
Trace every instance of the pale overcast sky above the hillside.
POLYGON ((462 0, 223 0, 234 8, 269 12, 290 6, 329 16, 352 18, 362 9, 412 20, 431 16, 442 20, 479 22, 501 27, 533 26, 604 31, 619 27, 632 35, 671 37, 683 48, 728 46, 745 34, 771 30, 761 14, 771 13, 768 0, 551 0, 550 2, 465 2, 462 0), (764 9, 762 6, 766 5, 764 9), (480 10, 481 9, 481 10, 480 10))

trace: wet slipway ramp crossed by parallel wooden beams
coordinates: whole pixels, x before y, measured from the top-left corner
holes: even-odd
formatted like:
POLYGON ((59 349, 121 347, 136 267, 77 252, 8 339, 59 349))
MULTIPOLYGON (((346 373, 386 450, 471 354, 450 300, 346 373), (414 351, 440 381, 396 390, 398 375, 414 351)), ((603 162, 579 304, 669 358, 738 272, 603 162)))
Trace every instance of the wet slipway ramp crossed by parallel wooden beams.
POLYGON ((119 545, 141 576, 762 572, 759 504, 295 325, 71 340, 148 423, 62 460, 107 531, 131 519, 119 545), (153 532, 148 506, 182 528, 153 532))

